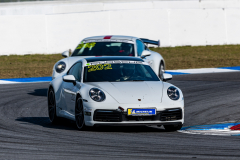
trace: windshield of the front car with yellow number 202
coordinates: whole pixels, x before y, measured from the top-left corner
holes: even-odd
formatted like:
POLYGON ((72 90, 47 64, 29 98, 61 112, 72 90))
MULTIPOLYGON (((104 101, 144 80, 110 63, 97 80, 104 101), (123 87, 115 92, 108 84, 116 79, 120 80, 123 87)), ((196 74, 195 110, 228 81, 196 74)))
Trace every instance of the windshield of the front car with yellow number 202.
POLYGON ((97 64, 84 67, 84 82, 159 81, 152 68, 143 64, 97 64))

